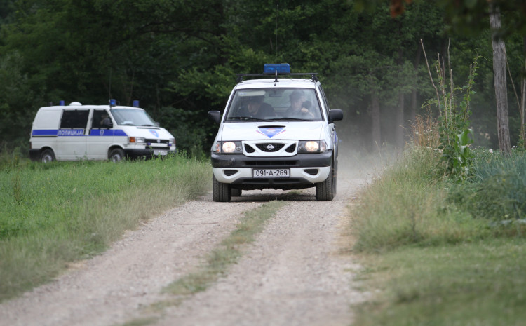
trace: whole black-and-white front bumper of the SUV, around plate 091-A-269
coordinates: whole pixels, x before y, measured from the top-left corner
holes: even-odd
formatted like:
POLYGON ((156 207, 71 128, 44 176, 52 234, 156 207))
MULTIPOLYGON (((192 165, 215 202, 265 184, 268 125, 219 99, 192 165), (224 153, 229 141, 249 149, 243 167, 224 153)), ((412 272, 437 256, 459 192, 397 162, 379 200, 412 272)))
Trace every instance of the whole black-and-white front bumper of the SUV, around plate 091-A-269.
POLYGON ((296 154, 288 157, 249 157, 243 154, 217 154, 211 156, 215 179, 231 184, 233 188, 252 189, 304 189, 327 179, 332 163, 332 151, 316 154, 296 154), (290 177, 254 178, 254 169, 290 169, 290 177))

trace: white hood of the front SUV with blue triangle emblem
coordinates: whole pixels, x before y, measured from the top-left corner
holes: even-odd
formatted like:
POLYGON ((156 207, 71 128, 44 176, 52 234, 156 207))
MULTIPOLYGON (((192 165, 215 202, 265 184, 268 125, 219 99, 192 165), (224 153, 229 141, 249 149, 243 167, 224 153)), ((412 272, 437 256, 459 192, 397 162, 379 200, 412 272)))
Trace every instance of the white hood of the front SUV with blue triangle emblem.
POLYGON ((220 140, 318 140, 323 121, 223 123, 220 140))

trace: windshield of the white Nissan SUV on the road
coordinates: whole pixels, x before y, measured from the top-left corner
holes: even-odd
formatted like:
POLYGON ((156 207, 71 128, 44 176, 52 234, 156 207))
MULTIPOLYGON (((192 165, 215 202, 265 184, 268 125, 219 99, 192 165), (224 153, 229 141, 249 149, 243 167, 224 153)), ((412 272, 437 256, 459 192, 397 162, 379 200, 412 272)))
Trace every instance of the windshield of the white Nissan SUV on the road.
POLYGON ((318 97, 307 88, 236 90, 225 121, 321 121, 318 97))

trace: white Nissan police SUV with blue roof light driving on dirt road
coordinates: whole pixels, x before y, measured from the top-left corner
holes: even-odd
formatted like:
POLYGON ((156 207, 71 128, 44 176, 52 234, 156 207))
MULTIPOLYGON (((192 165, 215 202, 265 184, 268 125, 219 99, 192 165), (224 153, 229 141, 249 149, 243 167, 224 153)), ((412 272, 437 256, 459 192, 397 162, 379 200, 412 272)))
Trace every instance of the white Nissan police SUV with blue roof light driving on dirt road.
POLYGON ((265 64, 263 74, 237 76, 224 114, 208 112, 220 123, 211 149, 213 200, 230 201, 243 190, 316 187, 316 200, 332 201, 338 171, 334 121, 343 112, 329 108, 317 74, 265 64))

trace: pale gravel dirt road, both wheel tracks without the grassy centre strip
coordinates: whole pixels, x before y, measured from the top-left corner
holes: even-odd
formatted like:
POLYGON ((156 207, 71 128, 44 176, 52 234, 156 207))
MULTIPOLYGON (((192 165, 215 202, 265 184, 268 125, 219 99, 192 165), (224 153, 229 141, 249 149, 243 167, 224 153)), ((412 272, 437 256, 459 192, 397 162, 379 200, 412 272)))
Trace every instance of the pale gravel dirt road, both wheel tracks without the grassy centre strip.
POLYGON ((308 189, 292 196, 245 191, 231 203, 214 203, 209 194, 186 203, 52 283, 1 304, 0 325, 109 326, 151 316, 148 325, 351 325, 350 306, 364 294, 352 287, 359 266, 341 254, 349 246, 342 233, 346 207, 366 179, 340 168, 331 202, 316 202, 308 189), (226 276, 180 304, 146 309, 169 301, 163 287, 194 271, 244 211, 276 198, 287 205, 226 276))

